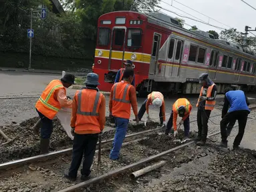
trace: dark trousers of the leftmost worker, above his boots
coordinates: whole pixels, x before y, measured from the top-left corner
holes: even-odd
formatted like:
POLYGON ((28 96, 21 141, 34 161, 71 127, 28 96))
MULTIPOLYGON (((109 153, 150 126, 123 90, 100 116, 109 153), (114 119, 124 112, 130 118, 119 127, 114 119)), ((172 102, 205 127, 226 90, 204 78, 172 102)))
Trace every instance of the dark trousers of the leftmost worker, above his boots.
POLYGON ((53 131, 52 119, 48 119, 39 111, 37 113, 41 119, 41 139, 49 139, 53 131))

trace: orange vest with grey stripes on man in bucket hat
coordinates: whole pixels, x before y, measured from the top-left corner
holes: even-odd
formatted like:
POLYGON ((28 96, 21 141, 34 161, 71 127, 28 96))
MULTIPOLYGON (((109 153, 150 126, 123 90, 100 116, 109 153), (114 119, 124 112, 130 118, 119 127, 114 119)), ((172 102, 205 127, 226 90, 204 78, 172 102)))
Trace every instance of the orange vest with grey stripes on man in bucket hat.
POLYGON ((94 89, 76 91, 75 99, 78 104, 78 110, 76 111, 76 133, 82 131, 100 133, 99 108, 102 96, 102 93, 94 89))

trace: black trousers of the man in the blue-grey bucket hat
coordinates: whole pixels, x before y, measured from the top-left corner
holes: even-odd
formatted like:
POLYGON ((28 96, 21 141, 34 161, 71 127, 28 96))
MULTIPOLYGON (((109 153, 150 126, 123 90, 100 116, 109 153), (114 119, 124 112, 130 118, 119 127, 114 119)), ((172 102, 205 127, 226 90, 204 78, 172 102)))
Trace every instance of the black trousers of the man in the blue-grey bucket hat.
POLYGON ((82 162, 84 154, 83 169, 81 169, 81 174, 88 176, 91 173, 91 166, 94 161, 94 154, 96 150, 96 145, 98 141, 99 134, 84 134, 79 135, 75 133, 73 141, 73 152, 72 152, 72 162, 70 165, 70 170, 68 175, 70 177, 76 178, 78 175, 78 169, 82 162))

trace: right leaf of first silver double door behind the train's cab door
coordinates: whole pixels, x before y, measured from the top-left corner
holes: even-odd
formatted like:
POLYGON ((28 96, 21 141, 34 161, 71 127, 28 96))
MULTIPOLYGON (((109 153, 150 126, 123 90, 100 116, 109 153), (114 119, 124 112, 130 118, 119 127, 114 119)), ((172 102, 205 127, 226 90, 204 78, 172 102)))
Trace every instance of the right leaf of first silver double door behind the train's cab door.
POLYGON ((181 62, 181 53, 182 53, 182 47, 183 47, 183 41, 180 39, 175 39, 175 49, 174 49, 174 54, 172 56, 173 58, 173 63, 172 65, 172 77, 178 77, 179 71, 180 71, 180 62, 181 62))

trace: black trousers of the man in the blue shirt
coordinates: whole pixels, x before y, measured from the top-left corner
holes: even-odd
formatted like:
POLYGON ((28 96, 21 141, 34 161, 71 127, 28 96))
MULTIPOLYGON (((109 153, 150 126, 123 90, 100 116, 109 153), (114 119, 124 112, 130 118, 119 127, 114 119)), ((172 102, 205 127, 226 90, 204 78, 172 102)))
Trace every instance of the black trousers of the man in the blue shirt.
POLYGON ((239 131, 237 137, 235 137, 233 146, 238 147, 243 139, 243 134, 245 133, 245 126, 247 123, 248 114, 249 111, 246 110, 239 110, 227 113, 221 120, 221 140, 227 141, 227 124, 229 122, 234 122, 237 120, 239 124, 239 131))

